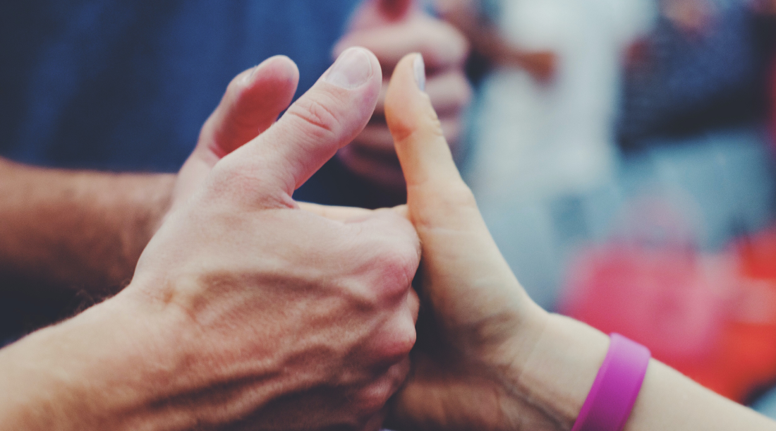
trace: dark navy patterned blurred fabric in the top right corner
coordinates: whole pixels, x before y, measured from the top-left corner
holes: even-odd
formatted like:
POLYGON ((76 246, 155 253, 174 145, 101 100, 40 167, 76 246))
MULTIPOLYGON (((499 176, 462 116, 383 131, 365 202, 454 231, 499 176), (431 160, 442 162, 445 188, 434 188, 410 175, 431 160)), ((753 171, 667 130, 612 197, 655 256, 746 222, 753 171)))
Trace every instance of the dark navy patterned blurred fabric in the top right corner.
POLYGON ((626 75, 618 137, 625 149, 653 137, 736 127, 765 113, 767 54, 744 2, 722 2, 702 33, 665 17, 626 75))

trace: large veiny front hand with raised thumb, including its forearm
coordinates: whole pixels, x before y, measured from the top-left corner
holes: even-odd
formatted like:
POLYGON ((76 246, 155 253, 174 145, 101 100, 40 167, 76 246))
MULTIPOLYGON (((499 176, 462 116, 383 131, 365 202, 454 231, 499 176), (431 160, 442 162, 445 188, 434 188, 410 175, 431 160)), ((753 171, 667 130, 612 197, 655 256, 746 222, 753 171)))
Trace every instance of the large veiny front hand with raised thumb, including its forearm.
POLYGON ((376 57, 345 51, 215 164, 121 294, 0 351, 0 429, 377 429, 414 344, 417 235, 393 210, 291 195, 381 82, 376 57))

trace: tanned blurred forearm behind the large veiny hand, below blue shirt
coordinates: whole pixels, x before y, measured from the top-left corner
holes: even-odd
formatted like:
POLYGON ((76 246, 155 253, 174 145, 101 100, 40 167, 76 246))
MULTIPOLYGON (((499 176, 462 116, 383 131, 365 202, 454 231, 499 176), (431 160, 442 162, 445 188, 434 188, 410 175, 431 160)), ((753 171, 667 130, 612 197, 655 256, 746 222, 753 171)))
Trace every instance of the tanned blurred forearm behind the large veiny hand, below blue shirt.
POLYGON ((0 159, 0 285, 46 296, 115 293, 158 228, 174 178, 0 159))

